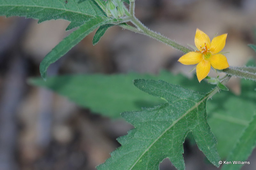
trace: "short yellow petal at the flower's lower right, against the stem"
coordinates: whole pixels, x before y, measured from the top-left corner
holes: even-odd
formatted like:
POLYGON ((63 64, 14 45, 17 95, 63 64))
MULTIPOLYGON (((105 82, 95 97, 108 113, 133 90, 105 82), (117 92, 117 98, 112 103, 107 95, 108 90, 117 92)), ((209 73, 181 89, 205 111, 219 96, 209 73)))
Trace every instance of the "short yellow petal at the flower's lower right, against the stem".
POLYGON ((209 58, 209 61, 213 68, 222 70, 228 68, 227 58, 222 54, 214 54, 209 58))

